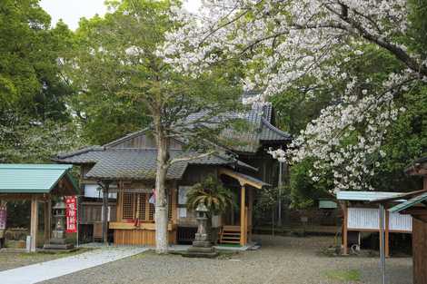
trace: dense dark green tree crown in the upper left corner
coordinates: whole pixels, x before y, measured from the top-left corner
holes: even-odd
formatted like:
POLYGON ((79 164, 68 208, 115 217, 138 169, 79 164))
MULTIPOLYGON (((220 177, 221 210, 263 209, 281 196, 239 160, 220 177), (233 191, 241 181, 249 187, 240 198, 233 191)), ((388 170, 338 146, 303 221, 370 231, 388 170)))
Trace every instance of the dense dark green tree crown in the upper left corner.
POLYGON ((38 1, 0 3, 0 112, 67 117, 61 99, 71 90, 60 77, 57 60, 70 32, 65 24, 49 25, 50 16, 38 1))

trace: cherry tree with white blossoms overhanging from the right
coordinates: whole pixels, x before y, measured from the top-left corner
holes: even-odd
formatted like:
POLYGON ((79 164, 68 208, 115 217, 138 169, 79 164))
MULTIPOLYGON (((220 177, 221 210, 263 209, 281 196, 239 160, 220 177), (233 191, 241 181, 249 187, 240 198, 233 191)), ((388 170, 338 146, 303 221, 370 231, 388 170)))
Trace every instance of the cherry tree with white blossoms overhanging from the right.
POLYGON ((167 34, 158 54, 193 75, 240 58, 247 70, 244 87, 263 90, 247 103, 286 93, 303 78, 310 78, 305 89, 311 95, 316 88, 329 90, 334 103, 289 150, 271 153, 289 162, 312 158, 313 181, 332 174, 332 191, 372 190, 365 177, 384 155, 387 127, 404 111, 393 100, 427 81, 425 58, 407 44, 413 40, 412 9, 406 0, 204 0, 197 14, 172 9, 184 24, 167 34), (345 72, 367 47, 390 54, 399 67, 380 82, 345 72), (343 90, 331 80, 341 81, 343 90))

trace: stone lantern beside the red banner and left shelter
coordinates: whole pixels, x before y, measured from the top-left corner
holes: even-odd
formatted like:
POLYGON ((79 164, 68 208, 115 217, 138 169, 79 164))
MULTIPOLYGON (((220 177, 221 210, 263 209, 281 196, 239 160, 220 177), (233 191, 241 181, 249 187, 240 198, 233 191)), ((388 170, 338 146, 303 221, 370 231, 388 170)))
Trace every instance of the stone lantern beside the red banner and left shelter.
POLYGON ((74 245, 65 242, 65 202, 61 199, 52 208, 54 210, 55 229, 53 238, 43 247, 44 250, 72 250, 74 245))

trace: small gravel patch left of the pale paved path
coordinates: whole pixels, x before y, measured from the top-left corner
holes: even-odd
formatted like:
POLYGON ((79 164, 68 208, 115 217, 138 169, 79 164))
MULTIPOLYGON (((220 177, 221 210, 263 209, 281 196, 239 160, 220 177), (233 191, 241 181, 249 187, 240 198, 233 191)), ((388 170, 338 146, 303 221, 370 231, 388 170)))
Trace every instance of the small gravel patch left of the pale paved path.
POLYGON ((70 253, 27 253, 16 251, 0 251, 0 271, 7 269, 15 269, 22 266, 45 262, 49 260, 56 260, 59 258, 68 257, 78 253, 87 251, 88 249, 78 250, 70 253))

